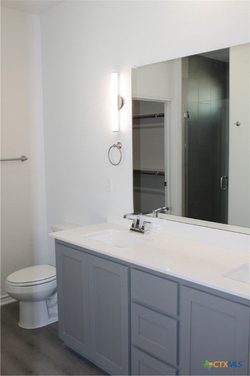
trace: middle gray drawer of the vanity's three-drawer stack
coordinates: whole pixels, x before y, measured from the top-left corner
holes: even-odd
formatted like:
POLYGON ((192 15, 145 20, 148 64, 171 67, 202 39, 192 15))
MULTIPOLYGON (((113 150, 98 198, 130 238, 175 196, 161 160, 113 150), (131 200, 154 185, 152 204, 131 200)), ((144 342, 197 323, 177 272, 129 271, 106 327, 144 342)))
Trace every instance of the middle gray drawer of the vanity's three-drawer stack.
POLYGON ((178 320, 131 304, 131 342, 142 350, 177 365, 178 320))

